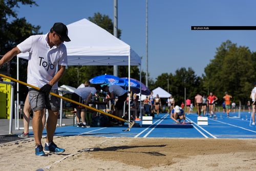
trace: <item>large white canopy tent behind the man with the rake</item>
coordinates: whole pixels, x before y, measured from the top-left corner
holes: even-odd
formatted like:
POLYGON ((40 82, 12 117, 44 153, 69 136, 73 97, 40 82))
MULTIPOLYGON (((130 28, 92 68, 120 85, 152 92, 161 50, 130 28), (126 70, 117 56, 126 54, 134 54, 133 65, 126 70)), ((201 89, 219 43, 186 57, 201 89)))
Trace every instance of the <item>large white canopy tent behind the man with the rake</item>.
MULTIPOLYGON (((70 42, 64 43, 67 47, 68 66, 129 66, 129 79, 130 66, 141 66, 141 58, 129 45, 89 20, 83 18, 67 27, 71 39, 70 42)), ((18 58, 28 59, 28 57, 29 53, 18 54, 17 79, 19 78, 18 58)), ((17 101, 19 101, 18 90, 17 84, 17 101)))

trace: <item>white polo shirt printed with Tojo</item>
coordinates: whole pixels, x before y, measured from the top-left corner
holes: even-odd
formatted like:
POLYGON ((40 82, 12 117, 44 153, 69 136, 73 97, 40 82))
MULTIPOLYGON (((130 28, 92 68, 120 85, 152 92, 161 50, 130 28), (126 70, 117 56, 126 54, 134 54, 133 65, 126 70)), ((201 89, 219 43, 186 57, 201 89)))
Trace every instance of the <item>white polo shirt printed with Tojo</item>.
MULTIPOLYGON (((68 65, 66 46, 60 44, 50 48, 47 39, 47 34, 33 35, 17 45, 22 53, 29 52, 27 82, 38 88, 52 80, 58 65, 68 65)), ((52 87, 52 90, 57 89, 58 82, 52 87)))

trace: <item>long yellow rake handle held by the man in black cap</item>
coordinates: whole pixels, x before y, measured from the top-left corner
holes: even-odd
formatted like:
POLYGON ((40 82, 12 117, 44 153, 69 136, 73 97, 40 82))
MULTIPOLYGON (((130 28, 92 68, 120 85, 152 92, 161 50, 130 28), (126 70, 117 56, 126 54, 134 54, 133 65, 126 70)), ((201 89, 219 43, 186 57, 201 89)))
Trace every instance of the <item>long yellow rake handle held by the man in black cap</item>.
MULTIPOLYGON (((28 83, 26 83, 26 82, 17 80, 17 79, 15 79, 15 78, 12 78, 12 77, 9 77, 9 76, 3 75, 3 74, 0 74, 0 76, 1 76, 1 77, 5 77, 5 78, 8 78, 8 79, 10 79, 10 80, 12 80, 12 81, 21 83, 21 84, 23 84, 23 85, 25 85, 25 86, 28 86, 28 87, 31 87, 31 88, 33 88, 33 89, 40 90, 38 87, 32 86, 32 85, 30 85, 30 84, 28 84, 28 83)), ((99 113, 101 113, 101 114, 103 114, 103 115, 107 115, 107 116, 110 116, 110 117, 112 117, 112 118, 118 119, 118 120, 120 120, 120 121, 123 121, 123 122, 132 124, 132 122, 130 122, 129 120, 125 120, 125 119, 119 118, 119 117, 117 117, 117 116, 115 116, 115 115, 105 113, 105 112, 100 111, 100 110, 98 110, 98 109, 92 108, 91 106, 88 106, 88 105, 86 105, 86 104, 79 103, 79 102, 77 102, 77 101, 71 100, 71 99, 69 99, 69 98, 60 96, 60 95, 55 94, 55 93, 51 93, 51 92, 50 92, 50 94, 53 95, 53 96, 56 96, 56 97, 58 97, 58 98, 62 98, 62 99, 64 99, 64 100, 66 100, 66 101, 69 101, 69 102, 72 102, 72 103, 81 105, 81 106, 83 106, 84 108, 90 109, 90 110, 92 110, 92 111, 99 112, 99 113)))

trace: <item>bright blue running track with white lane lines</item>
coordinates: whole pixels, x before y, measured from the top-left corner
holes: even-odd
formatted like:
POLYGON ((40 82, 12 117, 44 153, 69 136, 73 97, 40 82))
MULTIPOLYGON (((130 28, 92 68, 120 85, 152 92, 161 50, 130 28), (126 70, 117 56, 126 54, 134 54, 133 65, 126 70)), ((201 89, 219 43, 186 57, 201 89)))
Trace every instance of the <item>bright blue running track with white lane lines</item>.
MULTIPOLYGON (((256 127, 249 125, 250 114, 241 113, 241 118, 227 118, 223 113, 216 113, 217 119, 208 118, 208 125, 197 125, 197 115, 186 115, 193 124, 175 124, 168 114, 160 114, 153 119, 152 125, 133 127, 123 132, 124 126, 113 127, 57 127, 55 136, 102 136, 102 137, 144 137, 144 138, 256 138, 256 127)), ((238 116, 237 113, 230 114, 238 116)), ((43 135, 46 135, 44 130, 43 135)))

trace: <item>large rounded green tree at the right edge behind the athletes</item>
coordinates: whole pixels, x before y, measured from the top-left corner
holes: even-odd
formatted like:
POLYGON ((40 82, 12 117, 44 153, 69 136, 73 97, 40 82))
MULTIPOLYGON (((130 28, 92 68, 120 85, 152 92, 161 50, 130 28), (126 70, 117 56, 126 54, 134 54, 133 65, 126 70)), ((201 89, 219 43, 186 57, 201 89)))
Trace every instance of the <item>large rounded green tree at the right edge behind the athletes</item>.
POLYGON ((219 99, 227 91, 233 101, 241 100, 244 104, 253 88, 254 73, 254 53, 248 47, 238 47, 227 40, 217 48, 215 58, 205 68, 204 87, 209 87, 219 99))

